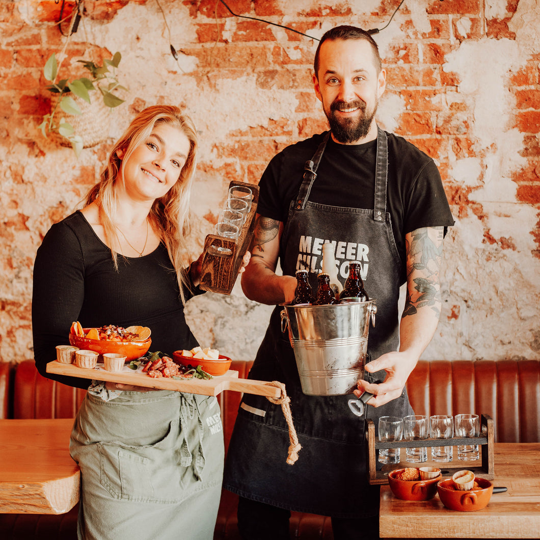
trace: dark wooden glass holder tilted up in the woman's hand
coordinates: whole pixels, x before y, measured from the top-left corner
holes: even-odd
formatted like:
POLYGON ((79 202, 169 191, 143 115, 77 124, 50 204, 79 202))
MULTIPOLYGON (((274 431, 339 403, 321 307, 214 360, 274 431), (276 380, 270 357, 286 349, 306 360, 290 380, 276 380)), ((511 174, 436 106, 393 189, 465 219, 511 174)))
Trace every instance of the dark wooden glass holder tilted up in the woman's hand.
POLYGON ((238 270, 242 263, 242 257, 246 253, 249 243, 253 237, 255 228, 255 213, 259 202, 259 186, 246 182, 232 181, 229 188, 233 186, 249 187, 253 194, 251 210, 246 217, 244 226, 240 232, 238 242, 228 238, 218 237, 215 234, 208 234, 204 242, 203 267, 201 270, 200 288, 203 291, 213 293, 231 294, 234 282, 238 277, 238 270), (211 247, 228 248, 228 254, 215 254, 211 247))

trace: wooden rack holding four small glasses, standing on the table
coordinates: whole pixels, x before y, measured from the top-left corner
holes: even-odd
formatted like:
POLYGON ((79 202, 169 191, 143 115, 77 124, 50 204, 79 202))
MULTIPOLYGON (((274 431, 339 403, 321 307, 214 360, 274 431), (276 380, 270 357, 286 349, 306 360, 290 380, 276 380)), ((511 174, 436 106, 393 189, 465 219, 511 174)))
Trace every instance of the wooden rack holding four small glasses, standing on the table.
MULTIPOLYGON (((404 467, 436 467, 441 469, 442 477, 451 477, 458 470, 467 469, 473 471, 476 477, 493 480, 495 478, 495 457, 494 457, 494 423, 491 416, 483 414, 481 416, 481 434, 479 437, 453 437, 449 439, 427 438, 421 441, 394 441, 394 442, 379 442, 375 437, 375 424, 373 420, 367 421, 368 436, 368 468, 369 468, 369 483, 370 484, 388 484, 388 473, 394 469, 402 469, 404 467), (435 461, 425 461, 423 463, 409 463, 405 461, 404 452, 401 453, 402 461, 394 465, 383 465, 382 470, 376 470, 376 455, 375 449, 380 448, 416 448, 416 447, 432 447, 432 446, 453 446, 458 444, 478 444, 480 447, 480 461, 458 461, 457 448, 454 448, 453 461, 441 463, 435 461)), ((429 452, 428 452, 429 457, 429 452)))

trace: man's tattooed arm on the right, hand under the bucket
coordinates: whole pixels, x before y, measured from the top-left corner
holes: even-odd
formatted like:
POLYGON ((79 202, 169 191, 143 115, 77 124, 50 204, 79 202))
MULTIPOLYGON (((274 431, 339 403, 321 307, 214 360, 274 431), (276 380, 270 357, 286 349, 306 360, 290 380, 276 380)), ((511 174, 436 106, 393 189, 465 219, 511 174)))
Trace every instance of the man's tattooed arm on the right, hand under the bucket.
POLYGON ((400 323, 399 352, 383 354, 366 365, 366 371, 386 371, 381 384, 360 381, 355 394, 375 394, 369 404, 378 407, 401 395, 420 355, 435 334, 441 314, 439 270, 442 259, 443 227, 424 227, 408 233, 407 295, 400 323))

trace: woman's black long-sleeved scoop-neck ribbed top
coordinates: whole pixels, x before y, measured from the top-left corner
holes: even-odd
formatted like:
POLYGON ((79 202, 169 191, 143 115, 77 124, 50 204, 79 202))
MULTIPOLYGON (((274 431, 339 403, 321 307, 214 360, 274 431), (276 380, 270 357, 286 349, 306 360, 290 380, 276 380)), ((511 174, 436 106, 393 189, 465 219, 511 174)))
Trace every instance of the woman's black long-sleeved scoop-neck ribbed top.
MULTIPOLYGON (((201 293, 195 289, 195 294, 201 293)), ((192 295, 187 290, 186 300, 192 295)), ((114 269, 110 249, 80 212, 53 225, 38 248, 33 273, 32 332, 39 372, 70 386, 89 381, 45 373, 56 359, 57 345, 69 345, 71 323, 84 328, 103 325, 148 326, 151 351, 172 354, 197 345, 184 318, 178 281, 166 247, 144 257, 118 256, 114 269)))

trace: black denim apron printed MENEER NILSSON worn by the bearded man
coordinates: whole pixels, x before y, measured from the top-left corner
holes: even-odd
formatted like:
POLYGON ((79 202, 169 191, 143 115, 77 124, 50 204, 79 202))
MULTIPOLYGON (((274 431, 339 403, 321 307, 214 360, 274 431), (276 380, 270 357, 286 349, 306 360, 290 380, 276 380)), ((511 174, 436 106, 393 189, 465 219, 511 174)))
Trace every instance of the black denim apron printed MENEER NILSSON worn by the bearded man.
MULTIPOLYGON (((403 262, 397 252, 390 215, 386 210, 388 170, 387 136, 377 133, 374 210, 328 206, 309 201, 329 133, 306 173, 296 200, 289 208, 280 242, 284 275, 307 267, 314 291, 322 262, 322 243, 336 242, 345 281, 348 261, 359 260, 370 298, 376 300, 375 328, 369 328, 368 355, 374 359, 397 350, 397 301, 403 262)), ((249 378, 284 382, 291 397, 294 427, 302 445, 298 461, 287 465, 289 435, 279 406, 266 397, 245 394, 227 451, 224 487, 240 496, 276 507, 334 517, 364 517, 378 513, 379 496, 367 481, 365 420, 349 410, 354 397, 308 396, 302 393, 296 361, 287 333, 281 332, 281 307, 274 309, 249 378)), ((384 371, 366 380, 382 382, 384 371)), ((382 407, 367 407, 366 416, 413 414, 403 390, 382 407)))

